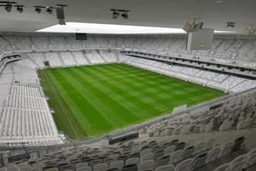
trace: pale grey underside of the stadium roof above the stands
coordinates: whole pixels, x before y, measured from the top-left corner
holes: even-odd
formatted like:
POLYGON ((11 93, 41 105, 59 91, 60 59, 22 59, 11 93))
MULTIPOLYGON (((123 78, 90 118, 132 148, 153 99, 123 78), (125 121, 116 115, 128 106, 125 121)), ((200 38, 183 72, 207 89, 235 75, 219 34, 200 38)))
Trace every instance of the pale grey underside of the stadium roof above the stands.
MULTIPOLYGON (((193 18, 204 22, 203 28, 228 32, 242 32, 245 26, 256 24, 255 0, 16 0, 17 5, 28 6, 22 13, 13 7, 9 13, 0 7, 0 32, 36 32, 58 23, 55 10, 52 14, 34 6, 64 7, 66 22, 118 24, 182 28, 193 18), (129 19, 112 18, 110 9, 129 10, 129 19), (236 28, 226 28, 226 22, 236 22, 236 28)), ((237 33, 236 33, 237 34, 237 33)))

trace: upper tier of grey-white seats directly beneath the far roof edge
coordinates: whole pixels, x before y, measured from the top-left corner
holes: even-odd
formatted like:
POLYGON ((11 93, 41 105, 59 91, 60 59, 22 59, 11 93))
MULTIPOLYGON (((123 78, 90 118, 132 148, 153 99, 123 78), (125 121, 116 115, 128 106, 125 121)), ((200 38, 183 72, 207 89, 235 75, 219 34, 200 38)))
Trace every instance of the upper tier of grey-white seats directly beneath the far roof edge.
POLYGON ((186 38, 176 37, 101 37, 88 36, 86 41, 76 41, 73 36, 0 36, 0 53, 23 49, 95 49, 132 48, 161 52, 199 55, 238 61, 256 61, 255 39, 214 38, 210 50, 186 51, 186 38))

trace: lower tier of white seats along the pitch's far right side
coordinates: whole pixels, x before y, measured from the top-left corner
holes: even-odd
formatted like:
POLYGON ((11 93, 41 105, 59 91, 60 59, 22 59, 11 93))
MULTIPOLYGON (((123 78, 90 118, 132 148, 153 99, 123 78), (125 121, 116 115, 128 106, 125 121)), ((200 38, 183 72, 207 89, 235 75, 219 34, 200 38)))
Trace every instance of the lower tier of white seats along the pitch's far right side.
POLYGON ((238 78, 235 76, 225 76, 223 74, 217 74, 214 72, 207 72, 205 70, 199 70, 199 68, 186 68, 182 66, 174 66, 168 64, 158 65, 159 67, 154 66, 155 61, 147 60, 147 59, 138 59, 136 57, 124 57, 122 55, 120 61, 124 61, 126 64, 130 64, 133 66, 137 66, 140 68, 144 68, 147 70, 159 72, 161 74, 165 74, 167 76, 173 76, 176 78, 180 78, 182 80, 194 82, 196 84, 203 84, 209 87, 213 87, 216 89, 220 89, 223 91, 230 91, 230 92, 240 92, 246 89, 255 87, 255 81, 248 80, 245 78, 238 78), (211 74, 210 74, 211 73, 211 74), (205 76, 207 75, 207 78, 205 76), (243 82, 247 82, 250 84, 242 84, 243 82), (242 85, 240 85, 242 84, 242 85), (243 86, 245 85, 245 86, 243 86))

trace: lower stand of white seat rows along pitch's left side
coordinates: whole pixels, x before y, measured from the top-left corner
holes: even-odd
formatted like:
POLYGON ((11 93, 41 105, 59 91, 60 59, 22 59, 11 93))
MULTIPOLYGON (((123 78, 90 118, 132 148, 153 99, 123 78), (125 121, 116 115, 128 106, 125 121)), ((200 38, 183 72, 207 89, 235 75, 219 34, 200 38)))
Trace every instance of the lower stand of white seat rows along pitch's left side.
POLYGON ((7 97, 0 114, 0 142, 25 141, 36 146, 63 143, 39 86, 36 70, 16 64, 13 69, 11 96, 7 97))

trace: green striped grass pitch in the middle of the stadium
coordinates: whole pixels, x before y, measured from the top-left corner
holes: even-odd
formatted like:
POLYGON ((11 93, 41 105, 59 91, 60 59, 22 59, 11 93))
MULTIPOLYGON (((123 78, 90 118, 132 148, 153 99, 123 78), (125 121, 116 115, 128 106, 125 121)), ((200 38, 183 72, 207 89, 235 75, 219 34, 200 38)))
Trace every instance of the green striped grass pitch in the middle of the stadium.
POLYGON ((71 139, 118 128, 223 96, 224 92, 126 64, 39 70, 58 130, 71 139))

